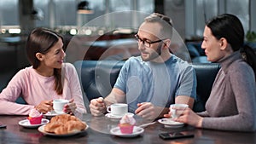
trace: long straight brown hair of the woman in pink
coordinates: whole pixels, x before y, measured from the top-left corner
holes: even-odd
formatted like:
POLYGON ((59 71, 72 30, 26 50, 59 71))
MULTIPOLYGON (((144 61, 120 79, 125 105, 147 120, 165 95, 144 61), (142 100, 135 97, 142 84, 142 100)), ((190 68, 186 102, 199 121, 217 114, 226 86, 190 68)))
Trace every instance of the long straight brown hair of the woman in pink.
MULTIPOLYGON (((55 43, 59 41, 61 35, 46 28, 38 27, 28 36, 26 42, 26 55, 34 69, 40 65, 40 60, 36 57, 37 53, 47 54, 55 43)), ((63 37, 61 37, 63 42, 63 37)), ((62 94, 61 69, 54 69, 55 91, 58 95, 62 94)))

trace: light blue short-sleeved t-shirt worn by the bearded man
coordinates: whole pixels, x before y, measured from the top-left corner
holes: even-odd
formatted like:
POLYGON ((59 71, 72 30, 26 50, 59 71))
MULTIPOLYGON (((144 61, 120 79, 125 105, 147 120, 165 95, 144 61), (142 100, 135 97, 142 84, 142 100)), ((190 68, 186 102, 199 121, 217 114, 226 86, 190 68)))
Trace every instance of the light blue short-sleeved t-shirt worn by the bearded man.
POLYGON ((169 107, 177 95, 196 100, 195 70, 175 55, 165 63, 143 61, 140 56, 131 57, 125 61, 114 87, 125 92, 129 112, 134 112, 141 102, 169 107))

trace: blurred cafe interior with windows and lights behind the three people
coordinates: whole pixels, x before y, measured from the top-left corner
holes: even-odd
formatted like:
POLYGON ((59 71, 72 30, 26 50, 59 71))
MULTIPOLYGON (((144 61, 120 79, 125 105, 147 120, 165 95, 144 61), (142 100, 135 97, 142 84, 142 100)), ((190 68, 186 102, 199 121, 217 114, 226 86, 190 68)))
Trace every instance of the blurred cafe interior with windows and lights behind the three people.
POLYGON ((246 42, 256 49, 255 5, 256 0, 1 0, 0 91, 15 72, 29 66, 26 37, 35 27, 48 27, 63 35, 65 49, 71 50, 67 62, 104 60, 106 55, 122 53, 119 49, 129 49, 129 57, 139 55, 133 37, 141 16, 159 12, 172 18, 190 62, 208 62, 201 49, 202 33, 205 21, 217 14, 236 14, 246 42), (109 47, 115 49, 104 53, 109 47), (87 53, 79 55, 84 49, 87 53))

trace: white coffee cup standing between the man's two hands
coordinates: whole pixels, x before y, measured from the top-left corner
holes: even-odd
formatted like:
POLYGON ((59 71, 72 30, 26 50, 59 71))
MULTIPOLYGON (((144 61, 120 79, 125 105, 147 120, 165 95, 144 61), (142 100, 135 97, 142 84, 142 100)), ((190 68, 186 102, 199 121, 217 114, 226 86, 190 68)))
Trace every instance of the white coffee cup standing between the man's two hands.
POLYGON ((125 103, 114 103, 107 107, 107 111, 113 116, 124 116, 128 112, 128 105, 125 103))

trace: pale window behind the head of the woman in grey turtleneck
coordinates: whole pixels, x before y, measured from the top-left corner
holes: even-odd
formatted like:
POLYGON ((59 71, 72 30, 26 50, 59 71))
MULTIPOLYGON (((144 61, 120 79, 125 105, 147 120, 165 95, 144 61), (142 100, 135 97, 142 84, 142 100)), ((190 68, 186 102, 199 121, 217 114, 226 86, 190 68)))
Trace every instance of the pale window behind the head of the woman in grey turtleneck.
MULTIPOLYGON (((218 14, 235 14, 241 20, 245 32, 249 30, 250 0, 194 0, 186 3, 186 37, 188 39, 202 36, 205 21, 218 14)), ((252 15, 253 17, 253 15, 252 15)))

